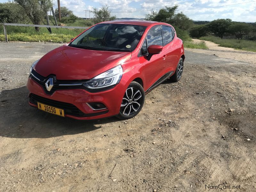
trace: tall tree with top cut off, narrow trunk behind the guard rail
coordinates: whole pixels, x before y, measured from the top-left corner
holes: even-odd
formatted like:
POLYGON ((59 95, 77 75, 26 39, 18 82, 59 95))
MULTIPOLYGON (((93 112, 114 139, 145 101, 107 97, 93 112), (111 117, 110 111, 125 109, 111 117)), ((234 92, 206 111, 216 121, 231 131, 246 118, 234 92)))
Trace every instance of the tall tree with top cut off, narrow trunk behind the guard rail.
MULTIPOLYGON (((40 25, 48 11, 51 10, 52 0, 14 0, 24 9, 34 25, 40 25)), ((39 31, 39 27, 35 27, 39 31)))

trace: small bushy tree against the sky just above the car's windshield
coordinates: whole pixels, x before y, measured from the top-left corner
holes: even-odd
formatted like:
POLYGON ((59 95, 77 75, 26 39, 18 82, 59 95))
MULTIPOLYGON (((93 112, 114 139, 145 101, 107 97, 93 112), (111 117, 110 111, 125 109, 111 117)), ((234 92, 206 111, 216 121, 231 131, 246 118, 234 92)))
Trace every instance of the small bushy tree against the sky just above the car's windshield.
POLYGON ((94 19, 96 23, 116 19, 116 16, 111 16, 111 11, 108 9, 108 5, 102 6, 101 9, 93 8, 92 13, 94 14, 94 19))

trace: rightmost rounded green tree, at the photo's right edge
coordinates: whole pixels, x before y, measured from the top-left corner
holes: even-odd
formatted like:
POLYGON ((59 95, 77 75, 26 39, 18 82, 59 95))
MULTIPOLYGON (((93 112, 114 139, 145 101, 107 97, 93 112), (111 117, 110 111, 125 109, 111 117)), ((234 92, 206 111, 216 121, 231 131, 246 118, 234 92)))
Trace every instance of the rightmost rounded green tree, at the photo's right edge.
POLYGON ((253 31, 253 26, 248 23, 233 22, 229 27, 229 31, 237 38, 242 39, 243 36, 253 31))

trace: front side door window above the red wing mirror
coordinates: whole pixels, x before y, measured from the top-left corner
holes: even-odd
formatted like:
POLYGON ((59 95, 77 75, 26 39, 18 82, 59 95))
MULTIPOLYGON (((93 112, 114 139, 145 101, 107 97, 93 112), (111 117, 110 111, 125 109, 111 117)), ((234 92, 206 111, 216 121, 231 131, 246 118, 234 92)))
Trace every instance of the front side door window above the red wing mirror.
POLYGON ((148 39, 148 47, 150 45, 163 45, 163 37, 162 37, 160 26, 156 26, 150 29, 147 39, 148 39))

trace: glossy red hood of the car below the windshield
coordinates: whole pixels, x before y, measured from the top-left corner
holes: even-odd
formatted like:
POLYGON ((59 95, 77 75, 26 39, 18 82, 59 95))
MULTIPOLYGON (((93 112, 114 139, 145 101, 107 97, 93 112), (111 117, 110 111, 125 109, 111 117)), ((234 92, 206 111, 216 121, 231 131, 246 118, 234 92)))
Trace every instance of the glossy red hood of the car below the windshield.
POLYGON ((131 52, 95 51, 63 45, 44 55, 34 70, 58 80, 91 79, 130 60, 131 52))

